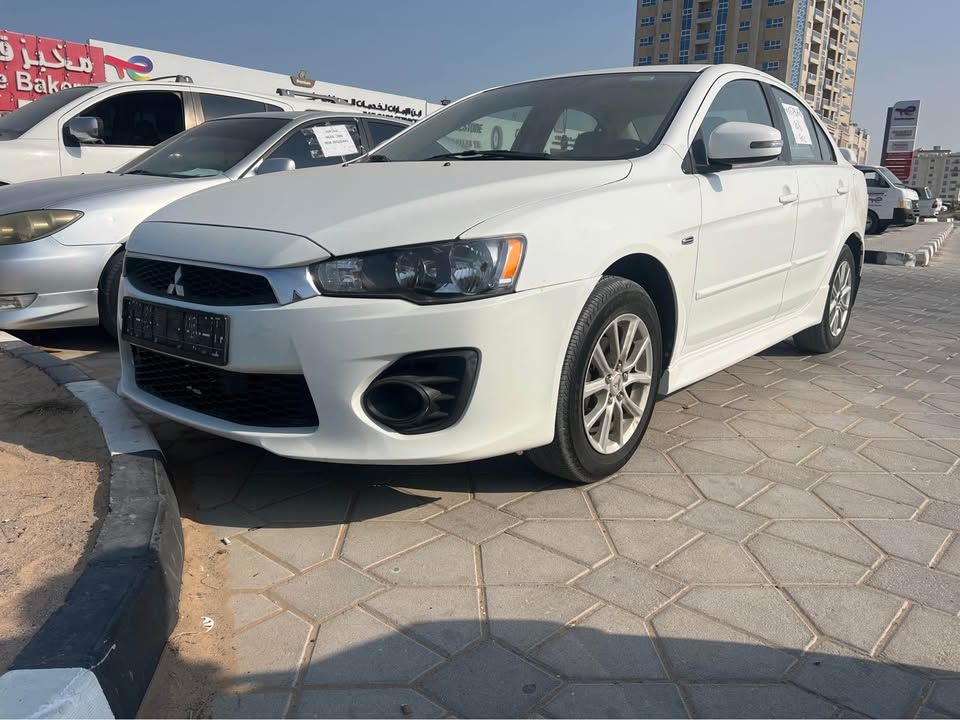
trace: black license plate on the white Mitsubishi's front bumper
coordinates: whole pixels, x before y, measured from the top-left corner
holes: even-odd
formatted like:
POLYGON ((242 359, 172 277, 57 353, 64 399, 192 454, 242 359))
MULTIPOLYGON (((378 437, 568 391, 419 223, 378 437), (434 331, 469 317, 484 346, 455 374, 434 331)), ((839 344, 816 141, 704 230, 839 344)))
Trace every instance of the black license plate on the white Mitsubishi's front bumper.
POLYGON ((228 329, 225 315, 123 299, 120 334, 134 345, 226 365, 228 329))

